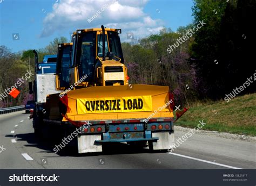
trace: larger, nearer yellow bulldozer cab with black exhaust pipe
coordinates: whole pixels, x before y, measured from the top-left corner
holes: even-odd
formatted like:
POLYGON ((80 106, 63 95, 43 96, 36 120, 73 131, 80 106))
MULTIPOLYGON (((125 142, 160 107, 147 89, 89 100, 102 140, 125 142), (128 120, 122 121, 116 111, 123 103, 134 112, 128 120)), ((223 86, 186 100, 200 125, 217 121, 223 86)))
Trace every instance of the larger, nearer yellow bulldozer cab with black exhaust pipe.
MULTIPOLYGON (((77 30, 73 33, 69 85, 76 82, 79 82, 77 87, 113 85, 118 81, 123 81, 119 85, 125 84, 124 77, 117 82, 114 82, 114 77, 112 77, 113 83, 109 84, 104 81, 103 68, 105 66, 122 68, 118 72, 122 72, 123 75, 121 76, 125 76, 119 33, 121 31, 118 29, 104 27, 102 29, 77 30)), ((109 73, 114 73, 114 71, 109 71, 109 73)), ((114 75, 112 74, 112 76, 114 75)))

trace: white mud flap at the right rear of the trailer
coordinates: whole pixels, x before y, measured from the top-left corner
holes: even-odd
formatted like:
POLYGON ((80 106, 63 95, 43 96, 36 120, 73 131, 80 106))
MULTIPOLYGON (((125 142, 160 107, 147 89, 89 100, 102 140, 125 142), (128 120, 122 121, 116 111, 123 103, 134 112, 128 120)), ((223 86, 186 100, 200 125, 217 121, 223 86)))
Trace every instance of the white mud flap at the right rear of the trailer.
POLYGON ((174 145, 174 133, 172 132, 153 132, 152 138, 158 137, 159 140, 153 142, 153 150, 170 149, 174 145))

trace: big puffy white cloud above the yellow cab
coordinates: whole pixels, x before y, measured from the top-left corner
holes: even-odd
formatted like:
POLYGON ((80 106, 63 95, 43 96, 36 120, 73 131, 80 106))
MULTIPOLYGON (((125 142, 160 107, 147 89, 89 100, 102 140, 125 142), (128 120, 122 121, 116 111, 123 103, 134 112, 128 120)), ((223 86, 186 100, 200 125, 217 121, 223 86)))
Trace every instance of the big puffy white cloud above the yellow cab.
POLYGON ((133 32, 134 38, 142 38, 158 33, 164 23, 152 19, 143 8, 148 0, 62 0, 53 4, 52 12, 44 18, 41 37, 47 37, 55 31, 69 31, 70 27, 92 28, 105 27, 122 28, 122 41, 126 32, 133 32), (97 12, 100 13, 97 15, 97 12), (89 23, 87 19, 92 21, 89 23))

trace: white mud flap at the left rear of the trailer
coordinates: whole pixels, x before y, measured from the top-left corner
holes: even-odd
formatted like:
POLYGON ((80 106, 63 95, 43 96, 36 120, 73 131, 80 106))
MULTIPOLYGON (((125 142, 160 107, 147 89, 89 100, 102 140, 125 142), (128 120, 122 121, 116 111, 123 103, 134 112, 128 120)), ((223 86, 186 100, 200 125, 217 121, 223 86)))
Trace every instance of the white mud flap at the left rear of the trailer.
POLYGON ((101 135, 78 135, 78 153, 102 152, 102 145, 95 142, 101 139, 101 135))

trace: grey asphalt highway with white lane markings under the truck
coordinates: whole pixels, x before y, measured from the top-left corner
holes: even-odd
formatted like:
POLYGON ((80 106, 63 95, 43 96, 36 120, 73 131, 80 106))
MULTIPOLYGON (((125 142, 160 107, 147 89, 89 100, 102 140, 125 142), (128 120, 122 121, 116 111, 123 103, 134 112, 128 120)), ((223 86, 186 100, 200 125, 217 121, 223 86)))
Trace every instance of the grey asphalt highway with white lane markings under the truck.
MULTIPOLYGON (((174 128, 175 129, 175 128, 174 128)), ((176 138, 185 132, 175 131, 176 138)), ((255 169, 255 143, 193 134, 172 153, 114 144, 103 153, 57 154, 34 137, 25 111, 0 115, 0 169, 255 169)))

